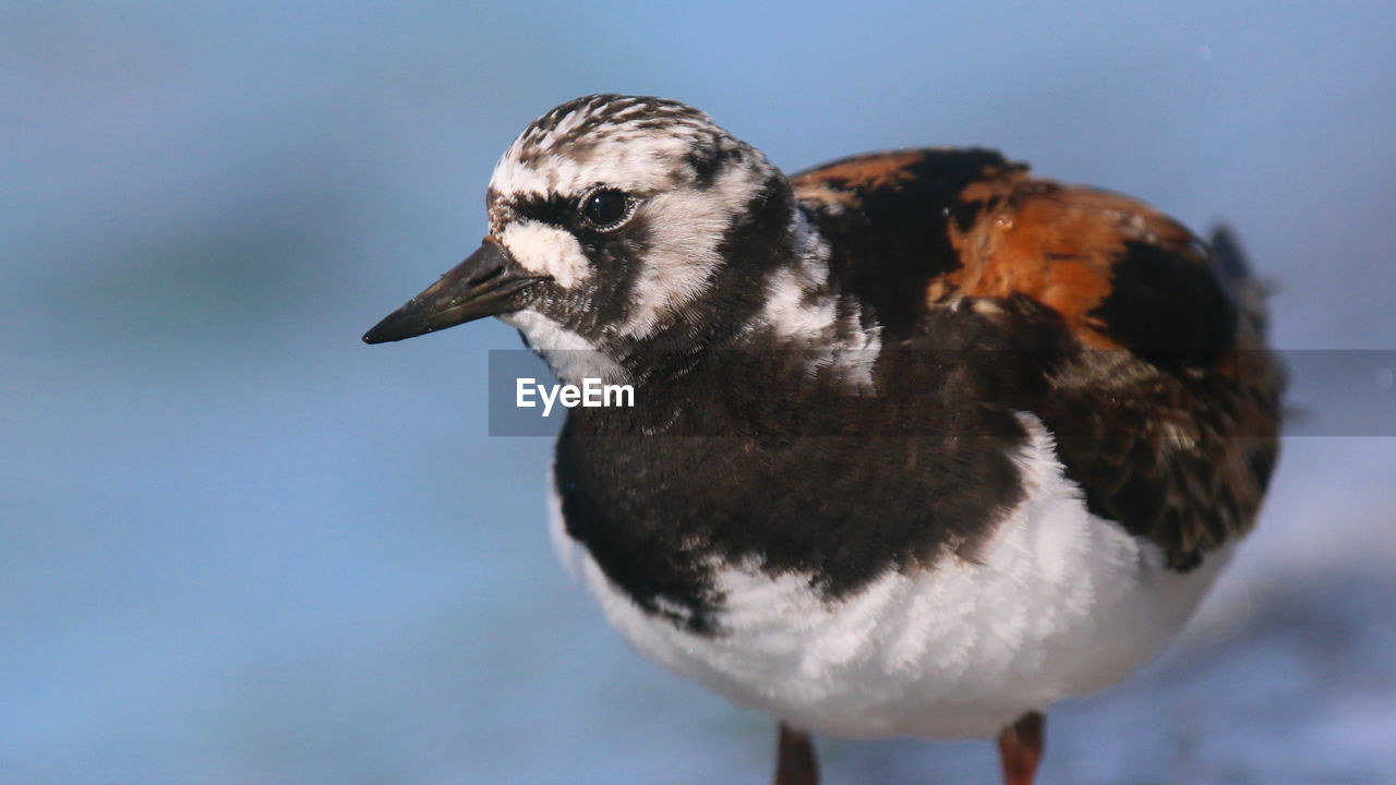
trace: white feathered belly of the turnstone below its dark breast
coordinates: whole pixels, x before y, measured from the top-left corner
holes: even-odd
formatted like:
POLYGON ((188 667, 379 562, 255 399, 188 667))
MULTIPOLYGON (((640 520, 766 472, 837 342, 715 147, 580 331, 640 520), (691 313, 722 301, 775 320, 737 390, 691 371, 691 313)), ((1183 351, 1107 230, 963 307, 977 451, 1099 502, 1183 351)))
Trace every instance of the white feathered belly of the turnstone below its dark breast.
POLYGON ((1166 570, 1153 543, 1086 511, 1040 422, 1023 423, 1027 497, 977 562, 889 570, 832 602, 808 575, 727 567, 715 636, 641 610, 567 536, 556 499, 554 545, 635 648, 736 703, 835 736, 994 736, 1157 654, 1227 555, 1166 570))

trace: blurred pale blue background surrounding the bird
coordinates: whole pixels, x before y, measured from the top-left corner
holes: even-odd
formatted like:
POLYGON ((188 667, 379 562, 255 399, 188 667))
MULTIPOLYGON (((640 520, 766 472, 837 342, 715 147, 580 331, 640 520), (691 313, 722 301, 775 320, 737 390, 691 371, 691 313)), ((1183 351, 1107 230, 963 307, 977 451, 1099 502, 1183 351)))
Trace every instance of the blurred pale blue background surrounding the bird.
MULTIPOLYGON (((787 169, 998 147, 1234 225, 1277 345, 1393 348, 1392 6, 0 6, 0 782, 769 777, 766 719, 554 564, 550 441, 486 436, 517 337, 359 342, 575 95, 687 101, 787 169)), ((1055 711, 1043 781, 1396 777, 1393 474, 1396 439, 1289 439, 1188 636, 1055 711)), ((831 782, 997 777, 981 742, 821 749, 831 782)))

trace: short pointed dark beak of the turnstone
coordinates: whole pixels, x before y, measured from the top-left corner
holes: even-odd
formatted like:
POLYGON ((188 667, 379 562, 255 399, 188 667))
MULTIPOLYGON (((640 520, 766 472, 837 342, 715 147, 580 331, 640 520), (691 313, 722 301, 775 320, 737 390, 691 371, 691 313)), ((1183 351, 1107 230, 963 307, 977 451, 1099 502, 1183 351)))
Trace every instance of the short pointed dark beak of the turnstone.
POLYGON ((402 341, 518 309, 517 293, 546 281, 522 267, 494 237, 440 281, 364 334, 364 344, 402 341))

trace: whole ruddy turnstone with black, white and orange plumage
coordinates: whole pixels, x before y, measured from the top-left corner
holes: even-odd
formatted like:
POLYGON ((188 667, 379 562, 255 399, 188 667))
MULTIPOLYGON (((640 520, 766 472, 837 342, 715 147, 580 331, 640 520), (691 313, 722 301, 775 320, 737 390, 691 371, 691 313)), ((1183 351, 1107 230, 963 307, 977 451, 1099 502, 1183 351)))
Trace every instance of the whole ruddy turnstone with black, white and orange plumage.
POLYGON ((366 335, 483 317, 563 383, 553 542, 641 654, 812 735, 983 738, 1178 633, 1255 524, 1284 374, 1266 285, 1118 193, 983 148, 786 175, 685 103, 532 122, 479 250, 366 335))

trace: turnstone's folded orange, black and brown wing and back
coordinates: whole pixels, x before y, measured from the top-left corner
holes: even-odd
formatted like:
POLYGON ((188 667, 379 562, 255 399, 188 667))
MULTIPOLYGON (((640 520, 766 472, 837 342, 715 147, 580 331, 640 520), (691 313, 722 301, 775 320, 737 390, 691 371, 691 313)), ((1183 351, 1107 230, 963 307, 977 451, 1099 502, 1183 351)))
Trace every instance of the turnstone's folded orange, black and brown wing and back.
POLYGON ((860 155, 792 184, 831 277, 886 338, 934 344, 948 320, 988 320, 1036 349, 998 365, 1040 384, 984 394, 1041 418, 1092 511, 1177 568, 1252 525, 1283 379, 1227 235, 1203 243, 1141 201, 983 149, 860 155))

